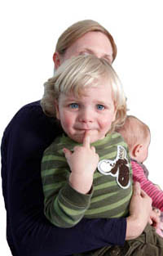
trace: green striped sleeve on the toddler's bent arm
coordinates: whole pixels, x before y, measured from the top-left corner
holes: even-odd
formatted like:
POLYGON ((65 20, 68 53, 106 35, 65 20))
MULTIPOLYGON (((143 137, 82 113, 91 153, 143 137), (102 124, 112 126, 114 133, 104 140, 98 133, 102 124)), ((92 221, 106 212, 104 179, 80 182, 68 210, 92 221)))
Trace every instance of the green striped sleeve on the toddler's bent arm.
POLYGON ((70 170, 62 152, 61 139, 58 137, 59 143, 56 139, 42 158, 44 213, 57 227, 73 227, 89 208, 91 194, 83 195, 69 185, 70 170))

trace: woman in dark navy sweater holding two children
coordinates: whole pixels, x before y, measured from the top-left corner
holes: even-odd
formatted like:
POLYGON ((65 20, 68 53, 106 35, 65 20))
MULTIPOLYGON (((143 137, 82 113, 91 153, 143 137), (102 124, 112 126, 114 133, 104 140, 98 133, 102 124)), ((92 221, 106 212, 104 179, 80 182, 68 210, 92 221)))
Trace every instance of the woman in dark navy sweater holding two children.
MULTIPOLYGON (((55 69, 80 54, 94 54, 112 62, 117 47, 103 26, 83 20, 60 36, 53 56, 55 69)), ((55 119, 43 114, 39 101, 24 106, 4 132, 2 188, 7 242, 14 256, 64 256, 105 245, 124 245, 125 240, 142 233, 150 217, 151 200, 136 184, 129 218, 83 219, 68 229, 51 225, 43 214, 40 164, 43 151, 59 132, 55 119)))

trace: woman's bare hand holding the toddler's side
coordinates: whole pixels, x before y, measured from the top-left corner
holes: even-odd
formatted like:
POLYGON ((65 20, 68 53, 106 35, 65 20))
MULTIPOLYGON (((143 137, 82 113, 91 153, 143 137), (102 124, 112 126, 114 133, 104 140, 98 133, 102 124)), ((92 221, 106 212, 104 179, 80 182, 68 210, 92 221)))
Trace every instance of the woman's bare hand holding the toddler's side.
POLYGON ((138 237, 146 227, 152 213, 152 199, 134 183, 130 201, 130 216, 127 218, 126 240, 138 237))

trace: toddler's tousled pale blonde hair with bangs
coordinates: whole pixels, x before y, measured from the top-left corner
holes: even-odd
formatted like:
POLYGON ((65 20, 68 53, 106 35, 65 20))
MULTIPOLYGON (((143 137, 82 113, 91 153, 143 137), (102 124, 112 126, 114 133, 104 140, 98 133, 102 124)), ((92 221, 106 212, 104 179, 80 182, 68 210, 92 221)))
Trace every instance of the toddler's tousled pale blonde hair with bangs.
POLYGON ((80 97, 83 95, 83 88, 100 86, 101 79, 107 79, 108 86, 112 86, 112 97, 117 111, 116 120, 112 123, 113 130, 126 119, 126 97, 112 66, 108 61, 93 55, 72 57, 59 66, 54 76, 44 84, 42 110, 46 115, 55 117, 55 101, 58 101, 60 93, 73 93, 80 97))

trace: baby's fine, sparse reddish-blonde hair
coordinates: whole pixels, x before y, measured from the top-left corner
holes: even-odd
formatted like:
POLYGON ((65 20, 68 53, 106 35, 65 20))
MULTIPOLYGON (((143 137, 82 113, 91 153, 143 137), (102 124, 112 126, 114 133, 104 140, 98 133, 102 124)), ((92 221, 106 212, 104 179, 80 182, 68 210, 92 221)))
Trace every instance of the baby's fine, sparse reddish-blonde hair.
POLYGON ((134 115, 127 115, 125 124, 121 128, 117 128, 117 132, 121 133, 129 146, 129 150, 132 150, 134 145, 142 143, 148 138, 150 129, 147 124, 144 124, 134 115))

